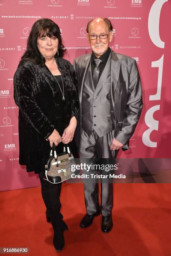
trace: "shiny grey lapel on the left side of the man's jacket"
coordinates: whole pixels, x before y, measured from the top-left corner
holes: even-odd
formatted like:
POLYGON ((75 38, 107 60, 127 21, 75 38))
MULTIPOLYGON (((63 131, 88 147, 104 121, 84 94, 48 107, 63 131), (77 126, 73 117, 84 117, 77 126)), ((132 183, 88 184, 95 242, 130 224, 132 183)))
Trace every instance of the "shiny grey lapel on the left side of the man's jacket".
POLYGON ((91 54, 88 54, 83 59, 82 65, 81 65, 80 70, 79 70, 80 71, 80 81, 82 81, 81 86, 79 88, 79 102, 80 102, 80 105, 82 105, 82 88, 83 88, 84 79, 85 79, 87 69, 89 67, 90 60, 91 60, 91 54))

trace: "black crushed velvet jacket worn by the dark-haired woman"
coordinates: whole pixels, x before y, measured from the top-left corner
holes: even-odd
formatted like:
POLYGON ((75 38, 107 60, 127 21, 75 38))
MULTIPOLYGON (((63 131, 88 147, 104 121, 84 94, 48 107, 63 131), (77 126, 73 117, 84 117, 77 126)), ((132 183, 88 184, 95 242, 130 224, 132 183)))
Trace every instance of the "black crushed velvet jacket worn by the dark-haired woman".
POLYGON ((66 115, 66 126, 72 116, 78 120, 74 69, 65 59, 56 58, 56 63, 66 84, 66 113, 60 105, 60 89, 46 65, 41 67, 28 59, 19 64, 14 75, 14 100, 19 107, 19 163, 27 166, 27 172, 44 171, 50 153, 46 138, 54 129, 62 135, 61 116, 66 115))

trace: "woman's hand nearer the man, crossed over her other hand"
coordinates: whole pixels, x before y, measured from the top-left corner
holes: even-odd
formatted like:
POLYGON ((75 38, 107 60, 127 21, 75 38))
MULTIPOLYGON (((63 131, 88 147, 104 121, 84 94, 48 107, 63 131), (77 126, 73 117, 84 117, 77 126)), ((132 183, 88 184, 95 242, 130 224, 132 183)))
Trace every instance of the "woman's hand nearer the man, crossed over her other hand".
POLYGON ((64 133, 62 134, 62 142, 64 144, 68 144, 72 141, 76 127, 77 119, 73 116, 69 122, 69 125, 66 127, 64 133))

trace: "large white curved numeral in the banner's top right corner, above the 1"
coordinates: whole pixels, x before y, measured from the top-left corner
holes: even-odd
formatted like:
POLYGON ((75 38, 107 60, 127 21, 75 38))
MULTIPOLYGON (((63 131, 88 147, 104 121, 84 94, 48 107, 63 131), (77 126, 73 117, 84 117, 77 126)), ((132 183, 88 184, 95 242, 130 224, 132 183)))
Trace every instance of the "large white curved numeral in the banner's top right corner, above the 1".
POLYGON ((153 44, 159 48, 164 48, 164 42, 161 41, 159 34, 159 22, 161 8, 168 0, 156 0, 151 6, 150 13, 148 15, 148 33, 153 44))

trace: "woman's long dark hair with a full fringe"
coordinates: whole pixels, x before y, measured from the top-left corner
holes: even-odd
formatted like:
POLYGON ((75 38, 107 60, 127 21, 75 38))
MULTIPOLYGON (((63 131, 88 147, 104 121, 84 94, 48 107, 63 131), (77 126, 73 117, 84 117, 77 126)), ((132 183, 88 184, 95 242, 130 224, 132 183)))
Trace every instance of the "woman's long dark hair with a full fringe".
POLYGON ((37 46, 37 39, 39 36, 56 36, 59 40, 59 45, 58 45, 58 55, 57 53, 55 56, 63 57, 64 52, 66 49, 64 48, 64 45, 62 44, 61 40, 61 32, 59 29, 59 26, 54 23, 53 20, 50 19, 40 19, 37 20, 33 27, 31 28, 30 35, 28 36, 28 41, 27 41, 27 50, 21 57, 21 61, 24 59, 33 59, 36 64, 40 64, 41 66, 44 66, 45 64, 45 59, 41 55, 40 51, 38 50, 37 46))

